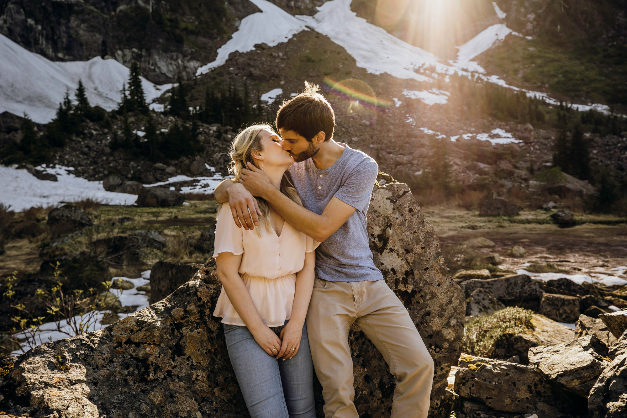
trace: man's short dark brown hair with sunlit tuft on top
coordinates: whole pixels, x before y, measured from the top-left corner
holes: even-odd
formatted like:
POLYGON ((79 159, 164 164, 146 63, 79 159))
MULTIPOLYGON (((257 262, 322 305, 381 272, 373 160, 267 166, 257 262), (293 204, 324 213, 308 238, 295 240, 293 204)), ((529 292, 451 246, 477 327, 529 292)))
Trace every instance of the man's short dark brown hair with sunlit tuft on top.
POLYGON ((285 100, 277 112, 277 129, 294 131, 312 142, 318 132, 325 141, 333 137, 335 114, 327 99, 318 93, 317 84, 305 82, 305 90, 293 99, 285 100))

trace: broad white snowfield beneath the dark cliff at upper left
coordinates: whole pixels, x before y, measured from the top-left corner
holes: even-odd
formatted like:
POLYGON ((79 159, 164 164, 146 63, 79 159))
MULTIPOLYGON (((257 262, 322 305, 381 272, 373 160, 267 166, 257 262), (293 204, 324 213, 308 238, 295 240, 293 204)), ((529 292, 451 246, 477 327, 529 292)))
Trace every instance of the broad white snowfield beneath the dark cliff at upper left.
MULTIPOLYGON (((34 122, 45 124, 54 119, 65 92, 74 92, 83 81, 92 106, 117 108, 122 85, 129 80, 129 68, 100 56, 89 61, 53 62, 26 50, 0 35, 0 113, 28 114, 34 122)), ((171 84, 155 85, 142 77, 146 100, 159 97, 171 84)))

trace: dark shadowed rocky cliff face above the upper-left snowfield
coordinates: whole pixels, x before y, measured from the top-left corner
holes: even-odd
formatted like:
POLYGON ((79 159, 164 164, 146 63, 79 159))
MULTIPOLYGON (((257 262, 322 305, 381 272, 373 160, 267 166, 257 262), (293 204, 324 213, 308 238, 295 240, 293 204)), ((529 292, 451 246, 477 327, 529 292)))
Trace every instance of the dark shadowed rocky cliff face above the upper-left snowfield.
POLYGON ((256 11, 248 0, 3 0, 0 33, 53 61, 137 60, 144 77, 165 83, 191 78, 256 11))

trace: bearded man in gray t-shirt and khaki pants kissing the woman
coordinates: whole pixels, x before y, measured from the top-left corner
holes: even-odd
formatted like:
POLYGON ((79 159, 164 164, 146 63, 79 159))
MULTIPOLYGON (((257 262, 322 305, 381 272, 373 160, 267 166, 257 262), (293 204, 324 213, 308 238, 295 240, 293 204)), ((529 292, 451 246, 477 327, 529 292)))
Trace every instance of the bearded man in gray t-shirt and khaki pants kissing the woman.
POLYGON ((348 343, 353 323, 381 351, 396 377, 392 416, 426 417, 433 360, 407 309, 375 267, 369 247, 366 212, 379 167, 367 154, 334 141, 335 115, 317 90, 317 85, 305 83, 305 91, 284 102, 277 113, 283 149, 295 161, 290 173, 303 206, 252 165, 242 173, 241 183, 223 181, 214 196, 229 202, 238 227, 258 225, 254 195, 294 228, 322 242, 316 250, 307 333, 325 417, 359 417, 348 343))

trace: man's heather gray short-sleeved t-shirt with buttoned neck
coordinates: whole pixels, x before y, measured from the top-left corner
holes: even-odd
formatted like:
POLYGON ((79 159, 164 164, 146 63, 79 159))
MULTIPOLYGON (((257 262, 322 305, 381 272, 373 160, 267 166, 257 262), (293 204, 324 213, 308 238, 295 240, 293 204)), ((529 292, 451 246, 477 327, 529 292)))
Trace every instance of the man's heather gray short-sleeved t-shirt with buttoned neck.
POLYGON ((308 210, 322 215, 333 196, 356 209, 316 249, 315 274, 332 282, 381 280, 381 271, 372 261, 366 230, 366 212, 379 166, 362 151, 342 145, 344 152, 327 169, 316 168, 311 158, 290 168, 298 195, 308 210))

